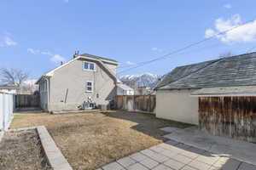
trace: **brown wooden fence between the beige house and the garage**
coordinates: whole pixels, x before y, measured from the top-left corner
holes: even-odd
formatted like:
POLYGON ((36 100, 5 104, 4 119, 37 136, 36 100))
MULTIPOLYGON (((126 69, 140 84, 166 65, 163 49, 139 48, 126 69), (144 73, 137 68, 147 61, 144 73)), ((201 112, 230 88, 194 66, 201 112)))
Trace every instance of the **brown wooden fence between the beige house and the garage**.
POLYGON ((145 111, 154 113, 155 95, 118 95, 116 108, 125 111, 145 111))

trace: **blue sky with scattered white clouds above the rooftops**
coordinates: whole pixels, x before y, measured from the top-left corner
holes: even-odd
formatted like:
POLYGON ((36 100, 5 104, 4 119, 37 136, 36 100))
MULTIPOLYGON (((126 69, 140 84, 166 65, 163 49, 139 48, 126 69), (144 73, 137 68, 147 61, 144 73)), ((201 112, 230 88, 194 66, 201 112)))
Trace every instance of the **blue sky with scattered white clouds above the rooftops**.
MULTIPOLYGON (((38 78, 79 50, 117 59, 121 71, 256 19, 255 6, 253 0, 2 0, 0 67, 24 69, 38 78)), ((225 52, 246 53, 255 40, 253 22, 122 74, 163 75, 225 52)))

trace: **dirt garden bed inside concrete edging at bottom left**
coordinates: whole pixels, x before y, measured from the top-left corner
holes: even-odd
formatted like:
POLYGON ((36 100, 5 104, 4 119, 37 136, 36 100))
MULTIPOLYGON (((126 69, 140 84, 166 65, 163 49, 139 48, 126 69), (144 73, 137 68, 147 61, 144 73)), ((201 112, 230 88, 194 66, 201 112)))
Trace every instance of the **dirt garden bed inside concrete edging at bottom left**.
POLYGON ((51 170, 36 130, 5 133, 0 143, 0 170, 51 170))

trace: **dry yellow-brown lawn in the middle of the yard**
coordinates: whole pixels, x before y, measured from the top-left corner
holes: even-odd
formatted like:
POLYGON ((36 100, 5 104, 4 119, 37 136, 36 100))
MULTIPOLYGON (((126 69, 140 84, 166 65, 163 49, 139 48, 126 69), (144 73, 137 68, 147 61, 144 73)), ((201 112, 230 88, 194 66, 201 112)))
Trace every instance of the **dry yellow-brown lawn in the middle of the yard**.
POLYGON ((18 114, 11 128, 45 125, 74 169, 96 169, 159 144, 160 127, 189 127, 154 115, 122 111, 61 115, 18 114))

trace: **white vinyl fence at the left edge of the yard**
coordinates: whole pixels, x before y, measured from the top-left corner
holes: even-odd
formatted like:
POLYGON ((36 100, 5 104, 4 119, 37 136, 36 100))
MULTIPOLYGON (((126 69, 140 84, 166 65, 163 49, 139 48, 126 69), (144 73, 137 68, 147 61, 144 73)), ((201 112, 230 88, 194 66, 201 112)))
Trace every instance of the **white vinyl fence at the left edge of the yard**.
POLYGON ((14 117, 14 96, 0 92, 0 131, 7 131, 14 117))

